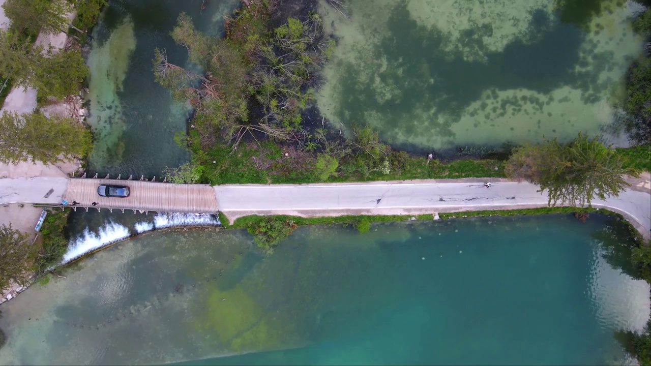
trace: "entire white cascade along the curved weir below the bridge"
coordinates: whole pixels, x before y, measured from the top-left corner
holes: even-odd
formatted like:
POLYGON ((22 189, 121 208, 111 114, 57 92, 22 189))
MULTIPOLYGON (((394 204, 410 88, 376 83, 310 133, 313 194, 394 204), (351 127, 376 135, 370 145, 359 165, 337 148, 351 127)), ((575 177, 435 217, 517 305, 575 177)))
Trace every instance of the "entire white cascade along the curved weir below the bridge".
POLYGON ((130 236, 142 234, 154 229, 165 229, 178 226, 217 226, 221 225, 217 215, 214 214, 166 214, 159 213, 149 216, 145 221, 139 221, 133 225, 133 230, 113 221, 105 223, 100 227, 98 233, 89 229, 77 236, 68 244, 68 252, 63 256, 61 264, 66 264, 77 259, 90 251, 100 249, 109 244, 124 240, 130 236))

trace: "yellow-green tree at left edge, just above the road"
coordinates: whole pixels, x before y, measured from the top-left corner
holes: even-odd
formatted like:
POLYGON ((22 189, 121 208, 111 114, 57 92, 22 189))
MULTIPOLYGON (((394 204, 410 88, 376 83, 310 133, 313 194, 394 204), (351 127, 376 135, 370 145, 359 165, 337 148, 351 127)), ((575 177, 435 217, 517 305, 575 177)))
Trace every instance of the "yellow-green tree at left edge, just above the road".
POLYGON ((70 118, 7 111, 0 116, 0 162, 3 163, 64 162, 86 156, 91 146, 90 131, 70 118))

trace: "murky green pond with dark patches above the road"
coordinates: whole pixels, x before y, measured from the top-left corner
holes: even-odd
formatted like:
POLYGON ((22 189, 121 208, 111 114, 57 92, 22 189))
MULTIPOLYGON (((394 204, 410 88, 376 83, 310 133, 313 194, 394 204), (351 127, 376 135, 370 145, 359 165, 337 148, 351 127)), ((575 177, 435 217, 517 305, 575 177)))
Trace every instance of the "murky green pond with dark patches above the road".
POLYGON ((318 105, 344 131, 368 123, 413 150, 578 132, 611 141, 624 74, 643 51, 633 1, 347 3, 349 18, 322 3, 339 44, 318 105))

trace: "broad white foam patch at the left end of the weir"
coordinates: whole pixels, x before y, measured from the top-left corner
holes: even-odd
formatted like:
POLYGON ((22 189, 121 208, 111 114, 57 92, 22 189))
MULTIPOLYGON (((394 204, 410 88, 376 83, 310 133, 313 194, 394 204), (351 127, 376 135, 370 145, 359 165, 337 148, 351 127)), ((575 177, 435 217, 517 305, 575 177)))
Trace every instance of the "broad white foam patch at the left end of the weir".
POLYGON ((89 251, 128 238, 130 235, 131 233, 127 227, 114 222, 100 227, 97 234, 86 229, 70 243, 68 253, 63 256, 61 264, 66 264, 70 260, 77 259, 89 251))

